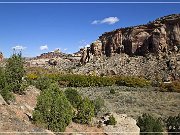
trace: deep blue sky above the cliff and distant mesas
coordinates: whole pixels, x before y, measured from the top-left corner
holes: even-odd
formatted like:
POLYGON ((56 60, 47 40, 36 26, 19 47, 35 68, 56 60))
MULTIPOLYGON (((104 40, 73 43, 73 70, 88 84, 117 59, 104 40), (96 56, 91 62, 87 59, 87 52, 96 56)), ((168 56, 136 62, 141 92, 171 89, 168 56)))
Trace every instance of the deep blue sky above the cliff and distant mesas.
POLYGON ((12 47, 15 46, 23 46, 23 55, 28 57, 56 48, 73 53, 80 46, 98 39, 104 32, 146 24, 174 13, 180 13, 180 4, 0 3, 0 51, 5 57, 12 54, 12 47), (44 50, 40 49, 41 46, 44 50))

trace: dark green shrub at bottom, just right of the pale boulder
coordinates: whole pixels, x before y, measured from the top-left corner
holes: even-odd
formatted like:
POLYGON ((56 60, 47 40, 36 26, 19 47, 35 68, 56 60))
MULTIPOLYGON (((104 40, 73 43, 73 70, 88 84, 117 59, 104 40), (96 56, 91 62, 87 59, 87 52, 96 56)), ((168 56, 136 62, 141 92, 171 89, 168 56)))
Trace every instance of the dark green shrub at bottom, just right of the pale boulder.
POLYGON ((140 128, 140 134, 142 135, 162 135, 162 133, 152 133, 152 132, 163 132, 163 126, 160 119, 154 118, 149 114, 143 114, 142 117, 138 118, 137 125, 140 128), (146 133, 143 133, 146 132, 146 133), (151 132, 151 133, 147 133, 151 132))

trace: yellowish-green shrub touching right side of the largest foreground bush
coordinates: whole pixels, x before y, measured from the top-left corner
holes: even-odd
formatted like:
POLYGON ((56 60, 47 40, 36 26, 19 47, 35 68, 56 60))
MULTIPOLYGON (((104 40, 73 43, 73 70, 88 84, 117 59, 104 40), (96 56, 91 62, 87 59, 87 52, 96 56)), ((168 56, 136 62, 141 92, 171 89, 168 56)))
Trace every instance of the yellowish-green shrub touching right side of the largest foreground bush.
POLYGON ((74 122, 81 124, 89 124, 94 117, 94 104, 88 98, 82 100, 77 108, 77 115, 73 118, 74 122))

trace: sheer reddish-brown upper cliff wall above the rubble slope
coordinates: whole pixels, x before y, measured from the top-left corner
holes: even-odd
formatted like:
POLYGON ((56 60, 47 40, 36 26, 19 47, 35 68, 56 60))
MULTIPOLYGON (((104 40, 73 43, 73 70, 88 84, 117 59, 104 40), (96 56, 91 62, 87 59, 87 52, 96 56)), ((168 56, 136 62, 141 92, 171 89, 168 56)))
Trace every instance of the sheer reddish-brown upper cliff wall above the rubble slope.
MULTIPOLYGON (((99 37, 102 54, 128 55, 160 54, 178 51, 180 48, 180 14, 159 18, 146 25, 120 28, 99 37)), ((92 44, 93 46, 93 44, 92 44)), ((92 49, 92 54, 96 51, 92 49)))

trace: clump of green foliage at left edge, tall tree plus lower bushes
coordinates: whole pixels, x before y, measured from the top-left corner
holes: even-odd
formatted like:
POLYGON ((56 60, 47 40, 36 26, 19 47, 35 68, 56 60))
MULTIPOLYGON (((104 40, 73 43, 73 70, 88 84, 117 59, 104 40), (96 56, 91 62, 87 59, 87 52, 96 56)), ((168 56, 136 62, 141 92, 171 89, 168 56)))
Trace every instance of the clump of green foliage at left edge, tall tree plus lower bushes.
POLYGON ((12 92, 23 94, 27 86, 22 79, 24 72, 21 54, 13 54, 5 69, 0 68, 0 94, 7 103, 14 100, 12 92))

